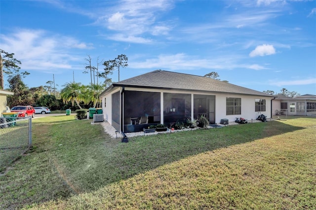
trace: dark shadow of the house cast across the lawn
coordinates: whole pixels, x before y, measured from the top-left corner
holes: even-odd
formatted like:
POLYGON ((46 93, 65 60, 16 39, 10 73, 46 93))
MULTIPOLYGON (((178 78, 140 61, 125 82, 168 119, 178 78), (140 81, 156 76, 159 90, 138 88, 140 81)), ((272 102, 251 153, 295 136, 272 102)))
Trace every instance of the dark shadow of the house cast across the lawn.
MULTIPOLYGON (((64 119, 61 124, 54 124, 58 123, 54 121, 50 126, 45 125, 50 143, 38 137, 37 144, 41 148, 30 153, 29 158, 20 160, 20 166, 14 169, 17 171, 15 174, 31 178, 28 178, 27 185, 24 182, 24 187, 17 182, 16 187, 11 186, 11 189, 18 192, 23 188, 23 195, 32 191, 38 193, 27 197, 21 194, 2 207, 20 208, 47 200, 67 199, 192 155, 304 129, 272 121, 135 137, 130 138, 128 143, 121 143, 120 139, 111 139, 105 134, 101 125, 91 126, 89 121, 69 121, 64 119), (29 168, 23 167, 26 163, 29 168)), ((40 128, 37 126, 35 129, 40 128)), ((35 133, 40 134, 41 131, 35 133)), ((17 181, 21 179, 19 176, 10 178, 0 184, 9 185, 15 183, 14 178, 17 181)))

